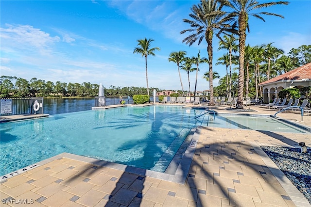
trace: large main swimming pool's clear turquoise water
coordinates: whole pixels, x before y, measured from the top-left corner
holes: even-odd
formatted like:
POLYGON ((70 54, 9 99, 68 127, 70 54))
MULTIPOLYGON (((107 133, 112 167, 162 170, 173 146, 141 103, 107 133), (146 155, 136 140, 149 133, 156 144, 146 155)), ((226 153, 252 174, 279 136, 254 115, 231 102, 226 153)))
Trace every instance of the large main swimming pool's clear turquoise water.
POLYGON ((63 152, 164 172, 201 111, 121 107, 4 123, 0 175, 63 152))

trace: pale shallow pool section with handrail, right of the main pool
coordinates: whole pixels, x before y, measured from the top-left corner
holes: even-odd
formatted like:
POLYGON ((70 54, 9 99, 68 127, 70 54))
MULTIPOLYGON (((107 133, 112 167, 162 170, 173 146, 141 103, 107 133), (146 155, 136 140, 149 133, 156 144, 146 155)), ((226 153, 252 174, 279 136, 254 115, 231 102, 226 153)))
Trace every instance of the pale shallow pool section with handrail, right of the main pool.
POLYGON ((214 119, 213 113, 210 113, 207 114, 204 119, 202 117, 201 122, 202 126, 206 123, 205 126, 208 127, 305 133, 302 129, 280 122, 275 118, 263 115, 221 113, 215 114, 214 119))

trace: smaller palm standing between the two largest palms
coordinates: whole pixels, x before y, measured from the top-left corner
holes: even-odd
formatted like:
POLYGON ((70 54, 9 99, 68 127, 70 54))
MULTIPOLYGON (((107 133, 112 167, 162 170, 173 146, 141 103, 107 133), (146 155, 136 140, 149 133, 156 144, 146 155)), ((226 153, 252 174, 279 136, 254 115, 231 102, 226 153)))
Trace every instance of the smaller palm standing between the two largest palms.
POLYGON ((220 49, 227 49, 229 50, 229 64, 230 64, 230 68, 229 68, 229 78, 230 78, 230 82, 229 82, 229 98, 231 98, 231 91, 232 91, 232 72, 231 72, 231 65, 232 65, 232 51, 233 52, 237 52, 238 51, 238 45, 236 44, 237 39, 233 36, 233 34, 231 35, 225 35, 224 36, 224 40, 221 40, 219 42, 219 48, 220 49))

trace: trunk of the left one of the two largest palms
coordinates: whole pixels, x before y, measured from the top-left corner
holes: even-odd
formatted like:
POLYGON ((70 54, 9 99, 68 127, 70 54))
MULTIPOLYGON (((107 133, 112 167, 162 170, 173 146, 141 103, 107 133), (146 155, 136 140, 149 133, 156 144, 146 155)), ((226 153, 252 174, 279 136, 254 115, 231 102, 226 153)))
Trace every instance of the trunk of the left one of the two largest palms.
POLYGON ((207 54, 208 54, 208 75, 209 75, 209 105, 214 106, 214 88, 213 88, 213 32, 207 31, 207 54))

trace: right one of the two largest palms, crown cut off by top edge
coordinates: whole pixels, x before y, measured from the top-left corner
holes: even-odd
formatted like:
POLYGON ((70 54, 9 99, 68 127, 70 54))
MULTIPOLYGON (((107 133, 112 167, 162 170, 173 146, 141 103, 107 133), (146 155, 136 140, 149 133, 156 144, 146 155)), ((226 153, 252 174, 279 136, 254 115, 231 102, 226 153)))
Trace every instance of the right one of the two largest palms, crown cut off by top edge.
POLYGON ((221 4, 225 7, 229 7, 231 11, 229 11, 225 19, 235 19, 234 24, 238 25, 239 28, 239 80, 238 80, 238 101, 237 108, 243 109, 243 89, 244 89, 244 54, 245 54, 245 40, 246 40, 246 29, 249 32, 249 24, 248 19, 250 16, 254 16, 265 21, 262 18, 262 15, 271 15, 271 16, 279 16, 284 18, 281 15, 270 13, 270 12, 258 12, 258 10, 262 10, 263 8, 270 7, 273 5, 284 4, 287 5, 288 1, 276 1, 276 2, 264 2, 259 3, 256 0, 219 0, 221 4), (254 11, 254 13, 251 13, 254 11))

